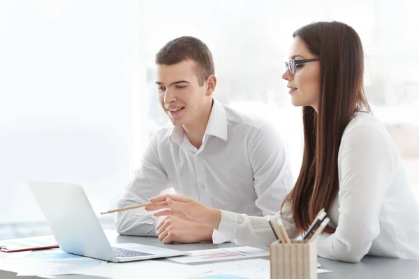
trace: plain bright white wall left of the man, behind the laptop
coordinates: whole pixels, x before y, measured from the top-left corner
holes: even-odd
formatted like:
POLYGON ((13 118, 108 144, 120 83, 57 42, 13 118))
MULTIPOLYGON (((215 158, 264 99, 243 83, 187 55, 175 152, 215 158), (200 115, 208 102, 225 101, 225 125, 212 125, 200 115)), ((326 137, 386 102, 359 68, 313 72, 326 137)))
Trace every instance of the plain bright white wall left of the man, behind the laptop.
POLYGON ((29 179, 80 183, 95 209, 115 206, 133 172, 137 12, 0 1, 0 223, 43 219, 29 179))

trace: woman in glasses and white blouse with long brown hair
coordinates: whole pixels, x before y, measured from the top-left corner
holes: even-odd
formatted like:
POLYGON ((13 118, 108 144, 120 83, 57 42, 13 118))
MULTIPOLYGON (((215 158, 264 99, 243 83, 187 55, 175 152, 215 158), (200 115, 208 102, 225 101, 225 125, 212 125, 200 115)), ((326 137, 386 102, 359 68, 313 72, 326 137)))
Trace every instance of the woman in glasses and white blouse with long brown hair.
MULTIPOLYGON (((293 105, 304 107, 304 154, 295 187, 277 217, 288 235, 297 237, 324 208, 330 223, 318 237, 321 257, 419 259, 419 206, 395 144, 369 113, 358 33, 340 22, 316 22, 293 37, 282 78, 293 105)), ((275 239, 267 218, 211 209, 177 195, 151 202, 164 200, 147 210, 166 208, 155 216, 209 225, 241 245, 269 246, 275 239)))

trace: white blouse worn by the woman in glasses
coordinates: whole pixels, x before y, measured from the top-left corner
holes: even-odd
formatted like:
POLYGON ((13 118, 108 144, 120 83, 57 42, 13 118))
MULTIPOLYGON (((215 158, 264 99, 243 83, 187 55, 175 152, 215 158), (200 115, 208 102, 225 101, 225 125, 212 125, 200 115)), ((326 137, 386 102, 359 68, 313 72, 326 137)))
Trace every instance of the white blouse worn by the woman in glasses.
MULTIPOLYGON (((318 255, 346 262, 365 255, 419 259, 418 202, 395 144, 371 114, 357 112, 344 130, 338 172, 339 193, 327 212, 336 232, 318 237, 318 255)), ((274 217, 297 236, 288 204, 274 217)), ((269 246, 275 240, 269 218, 221 211, 213 241, 269 246)))

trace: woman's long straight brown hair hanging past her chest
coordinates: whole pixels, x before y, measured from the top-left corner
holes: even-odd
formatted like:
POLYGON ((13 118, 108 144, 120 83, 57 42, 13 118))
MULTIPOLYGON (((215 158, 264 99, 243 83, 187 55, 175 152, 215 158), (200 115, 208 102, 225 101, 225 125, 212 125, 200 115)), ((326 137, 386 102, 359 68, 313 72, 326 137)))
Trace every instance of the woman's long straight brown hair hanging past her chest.
MULTIPOLYGON (((354 112, 369 111, 363 90, 364 52, 358 33, 341 22, 315 22, 293 33, 320 59, 318 112, 304 107, 304 152, 291 202, 299 232, 308 229, 318 211, 328 210, 339 191, 337 156, 344 129, 354 112)), ((328 226, 324 232, 335 229, 328 226)))

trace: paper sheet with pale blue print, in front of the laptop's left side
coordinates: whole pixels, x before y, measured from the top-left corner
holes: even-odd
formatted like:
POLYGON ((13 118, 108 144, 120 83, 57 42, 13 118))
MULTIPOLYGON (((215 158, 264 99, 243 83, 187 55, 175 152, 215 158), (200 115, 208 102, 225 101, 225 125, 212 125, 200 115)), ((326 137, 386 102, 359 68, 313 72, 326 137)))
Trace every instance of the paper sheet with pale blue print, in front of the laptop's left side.
POLYGON ((100 266, 107 262, 64 252, 59 249, 31 252, 17 276, 69 274, 80 269, 100 266))

